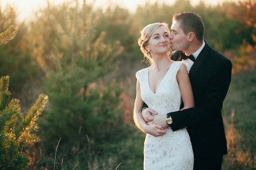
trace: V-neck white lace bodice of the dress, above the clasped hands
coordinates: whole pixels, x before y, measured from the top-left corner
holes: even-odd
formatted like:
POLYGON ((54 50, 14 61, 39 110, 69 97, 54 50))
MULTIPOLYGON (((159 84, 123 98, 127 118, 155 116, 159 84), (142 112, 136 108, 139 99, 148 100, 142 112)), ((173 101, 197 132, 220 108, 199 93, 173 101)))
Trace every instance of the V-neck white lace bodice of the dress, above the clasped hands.
POLYGON ((182 62, 173 62, 166 75, 160 82, 157 90, 153 93, 148 84, 148 68, 136 73, 140 82, 142 100, 159 114, 166 114, 180 110, 181 94, 176 80, 177 71, 182 62), (168 93, 166 93, 168 91, 168 93))

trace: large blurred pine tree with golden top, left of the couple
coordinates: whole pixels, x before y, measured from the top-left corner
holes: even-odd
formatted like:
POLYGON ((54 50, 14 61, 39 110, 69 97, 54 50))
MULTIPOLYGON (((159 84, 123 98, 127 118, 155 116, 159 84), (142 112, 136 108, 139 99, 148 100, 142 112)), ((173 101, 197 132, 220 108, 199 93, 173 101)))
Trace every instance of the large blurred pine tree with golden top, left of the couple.
POLYGON ((94 150, 106 148, 104 142, 117 142, 124 134, 118 107, 123 89, 110 75, 117 69, 123 47, 119 41, 104 42, 106 32, 96 27, 101 25, 101 15, 85 2, 64 3, 47 7, 31 24, 29 40, 46 75, 44 93, 51 99, 39 122, 47 169, 52 169, 51 155, 60 138, 56 167, 64 158, 63 169, 72 169, 87 166, 88 138, 94 150))

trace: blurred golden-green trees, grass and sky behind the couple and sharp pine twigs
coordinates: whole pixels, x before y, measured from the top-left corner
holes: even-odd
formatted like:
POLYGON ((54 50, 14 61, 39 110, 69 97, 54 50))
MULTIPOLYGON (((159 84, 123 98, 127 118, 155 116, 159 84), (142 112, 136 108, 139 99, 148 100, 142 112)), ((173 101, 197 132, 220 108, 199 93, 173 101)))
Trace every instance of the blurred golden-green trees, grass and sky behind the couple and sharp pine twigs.
POLYGON ((19 30, 0 46, 0 76, 9 75, 11 98, 24 113, 39 94, 49 96, 40 141, 24 148, 30 170, 143 169, 145 134, 132 119, 135 73, 148 66, 139 31, 153 22, 171 26, 184 11, 202 17, 205 39, 233 64, 222 169, 256 170, 256 0, 148 0, 132 9, 111 0, 8 2, 0 1, 0 32, 19 30))

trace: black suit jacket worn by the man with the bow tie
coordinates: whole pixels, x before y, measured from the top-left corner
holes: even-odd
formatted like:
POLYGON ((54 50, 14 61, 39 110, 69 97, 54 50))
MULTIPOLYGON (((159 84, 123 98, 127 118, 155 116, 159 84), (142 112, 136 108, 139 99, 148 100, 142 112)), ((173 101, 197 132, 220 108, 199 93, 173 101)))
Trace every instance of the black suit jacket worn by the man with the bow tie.
MULTIPOLYGON (((169 113, 173 130, 187 128, 195 159, 227 154, 221 110, 231 81, 232 64, 205 43, 189 73, 195 108, 169 113)), ((171 59, 180 60, 179 53, 173 51, 171 59)))

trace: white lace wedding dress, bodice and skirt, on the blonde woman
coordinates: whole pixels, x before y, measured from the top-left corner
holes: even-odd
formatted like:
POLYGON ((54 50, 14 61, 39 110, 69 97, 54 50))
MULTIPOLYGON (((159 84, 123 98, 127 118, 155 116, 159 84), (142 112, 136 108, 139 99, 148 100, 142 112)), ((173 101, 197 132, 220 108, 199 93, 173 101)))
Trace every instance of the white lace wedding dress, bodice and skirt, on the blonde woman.
MULTIPOLYGON (((173 62, 162 82, 153 93, 148 84, 148 68, 136 73, 141 97, 148 107, 158 114, 180 110, 181 94, 176 75, 182 62, 173 62)), ((144 142, 144 170, 193 170, 193 150, 186 128, 154 137, 147 134, 144 142)))

